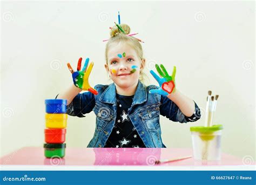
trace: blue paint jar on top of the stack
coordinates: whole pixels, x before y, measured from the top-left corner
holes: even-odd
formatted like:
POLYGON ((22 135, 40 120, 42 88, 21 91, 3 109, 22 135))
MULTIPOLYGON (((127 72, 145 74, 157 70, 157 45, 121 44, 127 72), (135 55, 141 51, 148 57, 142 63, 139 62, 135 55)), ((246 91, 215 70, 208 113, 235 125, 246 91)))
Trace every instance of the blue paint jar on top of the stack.
POLYGON ((45 100, 45 111, 51 114, 66 113, 66 99, 47 99, 45 100))

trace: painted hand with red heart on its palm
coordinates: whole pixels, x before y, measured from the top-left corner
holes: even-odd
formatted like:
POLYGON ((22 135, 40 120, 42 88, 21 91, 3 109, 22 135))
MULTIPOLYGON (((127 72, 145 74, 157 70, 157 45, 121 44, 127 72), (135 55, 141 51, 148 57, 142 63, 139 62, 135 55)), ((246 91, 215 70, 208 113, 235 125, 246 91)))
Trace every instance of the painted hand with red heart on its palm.
POLYGON ((157 72, 159 73, 160 77, 163 78, 160 78, 153 70, 150 70, 150 73, 157 80, 160 88, 158 90, 150 90, 149 93, 169 95, 175 91, 176 66, 173 66, 172 76, 169 76, 169 74, 165 70, 164 65, 160 64, 160 67, 158 66, 158 64, 156 64, 157 72))

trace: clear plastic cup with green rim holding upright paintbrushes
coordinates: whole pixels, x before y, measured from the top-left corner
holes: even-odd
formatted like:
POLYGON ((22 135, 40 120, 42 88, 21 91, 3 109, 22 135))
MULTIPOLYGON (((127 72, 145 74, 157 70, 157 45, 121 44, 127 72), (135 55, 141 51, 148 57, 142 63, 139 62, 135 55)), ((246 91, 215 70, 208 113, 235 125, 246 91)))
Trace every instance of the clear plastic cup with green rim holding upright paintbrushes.
POLYGON ((215 161, 221 157, 222 125, 212 125, 219 95, 208 91, 205 126, 191 127, 193 155, 195 160, 215 161))

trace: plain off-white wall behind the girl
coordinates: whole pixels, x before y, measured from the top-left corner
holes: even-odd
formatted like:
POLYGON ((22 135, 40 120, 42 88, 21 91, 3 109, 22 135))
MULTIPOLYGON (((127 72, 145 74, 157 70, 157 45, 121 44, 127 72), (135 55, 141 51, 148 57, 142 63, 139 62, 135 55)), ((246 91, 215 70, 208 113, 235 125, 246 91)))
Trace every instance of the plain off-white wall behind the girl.
MULTIPOLYGON (((214 124, 223 124, 223 152, 255 160, 254 2, 1 2, 1 156, 44 142, 45 99, 72 84, 66 67, 79 57, 95 62, 90 84, 107 84, 109 26, 139 32, 149 70, 177 66, 177 88, 203 117, 179 124, 160 118, 167 147, 192 147, 190 127, 204 125, 208 90, 219 94, 214 124)), ((149 85, 149 84, 147 84, 149 85)), ((69 117, 68 147, 86 147, 95 114, 69 117)))

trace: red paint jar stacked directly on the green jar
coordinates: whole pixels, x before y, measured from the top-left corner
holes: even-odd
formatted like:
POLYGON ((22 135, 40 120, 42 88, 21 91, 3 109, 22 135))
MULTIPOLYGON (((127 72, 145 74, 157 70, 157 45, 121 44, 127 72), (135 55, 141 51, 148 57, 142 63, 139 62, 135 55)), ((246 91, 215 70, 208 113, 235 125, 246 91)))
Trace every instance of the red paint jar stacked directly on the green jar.
POLYGON ((63 143, 66 139, 66 129, 65 128, 45 128, 44 136, 46 143, 63 143))

